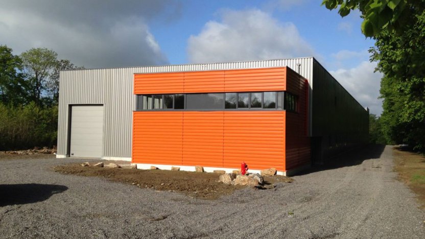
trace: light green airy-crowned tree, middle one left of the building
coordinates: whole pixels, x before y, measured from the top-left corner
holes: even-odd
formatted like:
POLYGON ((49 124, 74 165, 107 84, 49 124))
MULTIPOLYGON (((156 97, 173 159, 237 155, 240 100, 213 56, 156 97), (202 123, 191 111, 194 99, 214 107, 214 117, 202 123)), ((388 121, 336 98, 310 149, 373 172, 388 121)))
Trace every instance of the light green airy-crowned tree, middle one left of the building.
POLYGON ((21 54, 23 70, 27 75, 30 99, 41 105, 42 92, 57 65, 58 54, 46 48, 33 48, 21 54))

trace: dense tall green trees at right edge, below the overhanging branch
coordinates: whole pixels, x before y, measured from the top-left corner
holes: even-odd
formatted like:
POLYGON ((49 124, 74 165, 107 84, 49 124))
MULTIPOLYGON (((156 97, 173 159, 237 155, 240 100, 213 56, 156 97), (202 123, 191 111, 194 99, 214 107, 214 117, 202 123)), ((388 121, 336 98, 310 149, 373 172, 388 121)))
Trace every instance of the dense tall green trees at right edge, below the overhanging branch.
POLYGON ((403 35, 376 35, 371 59, 384 74, 381 97, 383 131, 396 144, 425 150, 425 12, 415 11, 403 35))

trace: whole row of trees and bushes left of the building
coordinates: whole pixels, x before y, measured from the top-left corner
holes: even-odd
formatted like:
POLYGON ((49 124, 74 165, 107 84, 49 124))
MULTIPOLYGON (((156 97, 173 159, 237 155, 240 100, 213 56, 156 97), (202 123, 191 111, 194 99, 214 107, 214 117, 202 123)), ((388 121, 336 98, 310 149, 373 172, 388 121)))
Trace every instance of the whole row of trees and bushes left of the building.
POLYGON ((0 150, 56 145, 59 71, 82 68, 53 50, 0 45, 0 150))

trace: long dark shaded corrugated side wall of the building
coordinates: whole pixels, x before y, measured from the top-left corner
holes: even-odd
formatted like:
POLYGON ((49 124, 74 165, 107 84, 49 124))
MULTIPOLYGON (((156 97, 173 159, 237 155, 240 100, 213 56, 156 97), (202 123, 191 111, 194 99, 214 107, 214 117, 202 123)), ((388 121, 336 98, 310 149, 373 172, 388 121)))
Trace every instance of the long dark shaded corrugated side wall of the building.
POLYGON ((316 158, 326 159, 347 146, 367 143, 369 112, 316 60, 313 75, 312 136, 321 151, 316 158))

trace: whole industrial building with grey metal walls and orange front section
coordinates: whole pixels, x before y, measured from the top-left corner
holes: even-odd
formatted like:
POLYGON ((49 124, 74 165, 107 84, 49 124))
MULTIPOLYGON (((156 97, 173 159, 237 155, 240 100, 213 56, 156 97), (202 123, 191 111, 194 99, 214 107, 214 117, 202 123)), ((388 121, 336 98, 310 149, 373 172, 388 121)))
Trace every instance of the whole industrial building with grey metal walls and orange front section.
POLYGON ((61 71, 57 157, 289 175, 366 143, 368 114, 313 57, 61 71))

